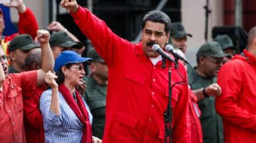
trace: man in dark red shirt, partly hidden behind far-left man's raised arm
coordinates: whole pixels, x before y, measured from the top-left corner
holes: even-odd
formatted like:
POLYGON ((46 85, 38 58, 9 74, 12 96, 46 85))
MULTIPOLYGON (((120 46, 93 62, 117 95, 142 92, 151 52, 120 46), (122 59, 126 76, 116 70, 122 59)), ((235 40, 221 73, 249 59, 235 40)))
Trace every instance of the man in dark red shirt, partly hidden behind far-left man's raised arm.
MULTIPOLYGON (((25 67, 28 71, 41 69, 41 54, 42 50, 38 47, 29 51, 25 59, 25 67)), ((34 93, 25 94, 23 97, 24 127, 27 143, 44 142, 44 124, 39 109, 39 100, 46 87, 46 84, 37 87, 34 93)))

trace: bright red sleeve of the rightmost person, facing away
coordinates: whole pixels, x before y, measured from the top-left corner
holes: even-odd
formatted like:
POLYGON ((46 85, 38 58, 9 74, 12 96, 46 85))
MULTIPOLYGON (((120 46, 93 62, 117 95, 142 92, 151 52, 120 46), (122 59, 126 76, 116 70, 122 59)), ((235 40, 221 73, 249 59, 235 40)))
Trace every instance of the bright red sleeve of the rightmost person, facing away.
POLYGON ((238 105, 242 90, 243 71, 241 65, 226 63, 218 75, 218 84, 222 88, 222 96, 216 97, 216 111, 224 120, 240 128, 256 131, 256 115, 238 105))

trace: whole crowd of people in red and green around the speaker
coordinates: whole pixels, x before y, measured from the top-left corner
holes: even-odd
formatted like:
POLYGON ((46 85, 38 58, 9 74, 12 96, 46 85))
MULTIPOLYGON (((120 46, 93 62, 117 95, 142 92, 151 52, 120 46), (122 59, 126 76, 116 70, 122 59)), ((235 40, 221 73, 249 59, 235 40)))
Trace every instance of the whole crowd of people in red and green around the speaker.
POLYGON ((4 5, 20 19, 18 33, 3 36, 0 10, 0 142, 255 142, 256 27, 242 53, 228 35, 203 43, 191 68, 165 47, 185 58, 192 34, 162 11, 145 14, 132 43, 62 0, 94 46, 82 57, 86 47, 61 23, 38 30, 22 0, 4 5))

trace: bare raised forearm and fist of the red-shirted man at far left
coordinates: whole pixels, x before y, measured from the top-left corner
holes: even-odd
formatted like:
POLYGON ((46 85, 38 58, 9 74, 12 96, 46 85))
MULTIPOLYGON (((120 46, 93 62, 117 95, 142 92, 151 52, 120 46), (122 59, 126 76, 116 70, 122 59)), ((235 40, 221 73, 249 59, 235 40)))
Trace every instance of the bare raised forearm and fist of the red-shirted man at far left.
POLYGON ((37 86, 40 86, 44 84, 45 74, 48 71, 53 72, 55 60, 53 58, 52 50, 49 45, 49 32, 45 30, 38 30, 37 39, 40 42, 42 49, 42 69, 37 70, 37 86))

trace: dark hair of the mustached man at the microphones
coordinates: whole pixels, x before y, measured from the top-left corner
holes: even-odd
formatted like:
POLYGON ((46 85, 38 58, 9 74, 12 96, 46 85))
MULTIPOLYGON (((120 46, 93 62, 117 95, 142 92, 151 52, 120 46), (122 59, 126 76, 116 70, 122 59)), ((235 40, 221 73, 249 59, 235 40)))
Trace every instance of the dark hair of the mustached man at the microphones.
POLYGON ((167 14, 165 14, 162 11, 149 11, 142 19, 142 29, 145 27, 147 21, 163 23, 165 24, 166 34, 170 31, 170 18, 167 14))

